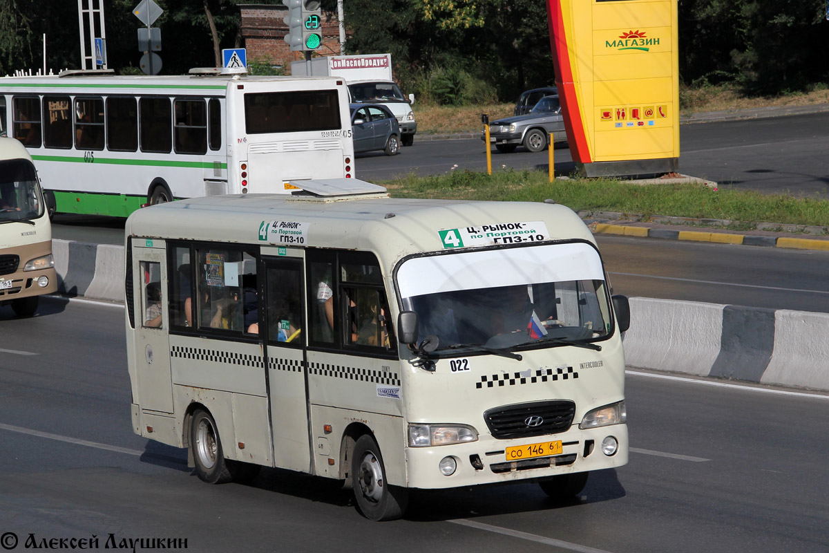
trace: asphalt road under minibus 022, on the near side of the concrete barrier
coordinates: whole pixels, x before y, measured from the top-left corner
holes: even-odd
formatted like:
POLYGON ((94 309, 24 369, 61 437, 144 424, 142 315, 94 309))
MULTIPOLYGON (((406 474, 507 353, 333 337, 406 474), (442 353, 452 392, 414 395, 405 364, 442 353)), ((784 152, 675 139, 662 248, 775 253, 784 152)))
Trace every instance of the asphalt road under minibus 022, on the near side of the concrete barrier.
MULTIPOLYGON (((628 373, 630 463, 577 501, 536 485, 415 493, 371 523, 327 481, 210 486, 132 433, 123 308, 0 308, 0 541, 187 540, 187 551, 827 551, 829 397, 628 373), (12 536, 12 534, 14 536, 12 536)), ((59 543, 59 542, 56 542, 59 543)), ((179 547, 185 551, 184 547, 179 547)), ((138 548, 138 551, 145 551, 138 548)))

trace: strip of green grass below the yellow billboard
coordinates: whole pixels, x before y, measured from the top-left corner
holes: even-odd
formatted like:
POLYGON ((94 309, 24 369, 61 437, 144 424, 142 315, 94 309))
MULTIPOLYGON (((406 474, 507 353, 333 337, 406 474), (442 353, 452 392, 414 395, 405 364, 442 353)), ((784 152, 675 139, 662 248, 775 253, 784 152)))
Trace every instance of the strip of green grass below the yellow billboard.
MULTIPOLYGON (((715 190, 696 184, 641 185, 607 179, 555 179, 546 172, 455 170, 448 175, 410 174, 384 182, 395 197, 453 200, 544 201, 574 211, 620 211, 730 221, 829 226, 829 202, 813 198, 715 190)), ((734 223, 739 228, 739 223, 734 223)))

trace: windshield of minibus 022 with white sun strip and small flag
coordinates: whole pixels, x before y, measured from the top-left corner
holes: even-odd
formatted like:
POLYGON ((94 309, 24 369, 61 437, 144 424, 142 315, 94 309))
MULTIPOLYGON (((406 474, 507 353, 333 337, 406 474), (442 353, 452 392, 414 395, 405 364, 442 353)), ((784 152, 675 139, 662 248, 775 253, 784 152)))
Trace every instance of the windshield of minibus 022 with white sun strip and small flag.
POLYGON ((411 258, 397 285, 437 351, 579 345, 611 330, 601 260, 584 242, 411 258))

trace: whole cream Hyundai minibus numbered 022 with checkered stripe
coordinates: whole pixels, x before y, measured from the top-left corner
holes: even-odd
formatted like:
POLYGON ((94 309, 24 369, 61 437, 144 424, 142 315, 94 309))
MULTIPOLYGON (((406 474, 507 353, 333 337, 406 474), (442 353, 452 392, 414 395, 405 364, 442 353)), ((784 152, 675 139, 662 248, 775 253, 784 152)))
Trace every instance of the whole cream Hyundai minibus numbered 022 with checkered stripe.
POLYGON ((628 462, 628 302, 573 211, 293 184, 129 217, 136 434, 208 483, 342 480, 371 520, 411 488, 566 497, 628 462))

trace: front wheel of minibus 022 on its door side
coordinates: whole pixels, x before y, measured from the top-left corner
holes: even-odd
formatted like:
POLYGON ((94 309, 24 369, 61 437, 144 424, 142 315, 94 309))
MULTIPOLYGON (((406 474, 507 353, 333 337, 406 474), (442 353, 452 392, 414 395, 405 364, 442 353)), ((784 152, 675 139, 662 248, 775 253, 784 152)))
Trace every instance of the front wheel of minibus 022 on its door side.
POLYGON ((364 517, 370 521, 391 521, 403 516, 409 491, 386 482, 383 456, 368 434, 362 435, 351 451, 351 481, 364 517))

